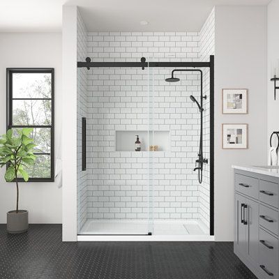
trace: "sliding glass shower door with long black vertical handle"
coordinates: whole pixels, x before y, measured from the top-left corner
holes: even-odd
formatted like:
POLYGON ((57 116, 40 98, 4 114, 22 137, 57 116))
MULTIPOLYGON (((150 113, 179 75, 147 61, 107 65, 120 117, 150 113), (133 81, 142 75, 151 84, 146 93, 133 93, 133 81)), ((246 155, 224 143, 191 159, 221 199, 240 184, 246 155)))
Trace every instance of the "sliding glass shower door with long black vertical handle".
POLYGON ((79 107, 77 110, 82 114, 78 116, 78 142, 80 119, 86 117, 86 170, 78 170, 78 177, 83 179, 77 181, 78 218, 84 217, 84 211, 86 218, 78 220, 78 232, 152 234, 152 69, 121 67, 87 71, 86 96, 81 88, 77 90, 78 106, 86 100, 86 112, 79 107), (86 197, 79 193, 84 190, 85 177, 86 197))

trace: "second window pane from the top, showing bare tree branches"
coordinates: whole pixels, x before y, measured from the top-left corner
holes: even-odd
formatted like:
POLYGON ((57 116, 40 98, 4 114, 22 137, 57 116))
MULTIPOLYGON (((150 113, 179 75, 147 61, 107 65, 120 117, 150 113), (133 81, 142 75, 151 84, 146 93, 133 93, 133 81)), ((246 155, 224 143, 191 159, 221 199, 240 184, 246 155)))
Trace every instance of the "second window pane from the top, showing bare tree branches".
POLYGON ((52 125, 51 100, 13 100, 13 125, 52 125))

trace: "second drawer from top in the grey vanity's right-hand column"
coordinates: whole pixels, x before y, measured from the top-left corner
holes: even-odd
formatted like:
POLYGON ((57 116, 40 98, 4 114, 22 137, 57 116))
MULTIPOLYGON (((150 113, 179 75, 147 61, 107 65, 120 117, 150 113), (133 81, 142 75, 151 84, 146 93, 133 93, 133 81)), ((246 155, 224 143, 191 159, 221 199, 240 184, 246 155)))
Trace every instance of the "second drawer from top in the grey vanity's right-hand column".
POLYGON ((278 235, 278 212, 260 204, 259 225, 278 235))

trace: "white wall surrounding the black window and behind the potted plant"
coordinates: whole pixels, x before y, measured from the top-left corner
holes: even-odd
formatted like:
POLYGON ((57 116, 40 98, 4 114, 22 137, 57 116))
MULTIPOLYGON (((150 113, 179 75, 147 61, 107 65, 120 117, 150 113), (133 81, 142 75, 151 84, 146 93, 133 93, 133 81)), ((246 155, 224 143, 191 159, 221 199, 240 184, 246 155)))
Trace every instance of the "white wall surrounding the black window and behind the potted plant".
MULTIPOLYGON (((6 133, 6 68, 54 68, 55 151, 61 130, 61 33, 0 33, 0 134, 6 133)), ((0 170, 0 223, 15 209, 15 185, 0 170)), ((29 211, 29 223, 61 223, 61 188, 57 183, 20 183, 20 209, 29 211)))

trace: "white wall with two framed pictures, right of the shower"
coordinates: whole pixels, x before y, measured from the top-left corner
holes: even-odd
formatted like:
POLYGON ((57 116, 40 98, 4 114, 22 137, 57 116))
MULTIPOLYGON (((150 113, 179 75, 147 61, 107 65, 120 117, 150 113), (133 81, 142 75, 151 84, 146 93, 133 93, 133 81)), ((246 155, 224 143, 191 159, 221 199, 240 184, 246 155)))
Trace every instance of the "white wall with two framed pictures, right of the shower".
POLYGON ((215 57, 215 234, 233 240, 232 165, 266 163, 266 7, 217 6, 215 57), (223 88, 248 89, 248 114, 223 115, 223 88), (222 149, 222 123, 248 123, 248 149, 222 149))

